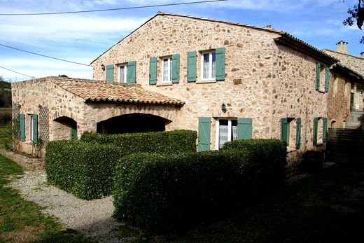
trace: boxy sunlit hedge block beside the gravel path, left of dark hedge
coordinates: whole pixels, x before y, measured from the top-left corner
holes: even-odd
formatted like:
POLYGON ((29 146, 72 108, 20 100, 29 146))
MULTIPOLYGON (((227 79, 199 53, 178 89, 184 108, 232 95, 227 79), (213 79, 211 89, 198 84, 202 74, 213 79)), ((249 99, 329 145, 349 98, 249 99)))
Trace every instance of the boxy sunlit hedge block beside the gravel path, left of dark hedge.
POLYGON ((47 180, 85 200, 111 195, 114 168, 123 155, 110 145, 50 141, 45 150, 47 180))

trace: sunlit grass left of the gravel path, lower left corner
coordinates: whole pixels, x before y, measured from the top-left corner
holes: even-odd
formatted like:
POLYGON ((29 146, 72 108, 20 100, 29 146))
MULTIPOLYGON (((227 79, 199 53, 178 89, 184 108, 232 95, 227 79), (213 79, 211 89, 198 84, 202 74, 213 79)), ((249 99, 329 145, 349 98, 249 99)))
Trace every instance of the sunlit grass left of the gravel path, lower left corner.
POLYGON ((10 177, 21 176, 22 168, 0 155, 0 242, 90 242, 73 230, 41 213, 41 207, 6 187, 10 177))

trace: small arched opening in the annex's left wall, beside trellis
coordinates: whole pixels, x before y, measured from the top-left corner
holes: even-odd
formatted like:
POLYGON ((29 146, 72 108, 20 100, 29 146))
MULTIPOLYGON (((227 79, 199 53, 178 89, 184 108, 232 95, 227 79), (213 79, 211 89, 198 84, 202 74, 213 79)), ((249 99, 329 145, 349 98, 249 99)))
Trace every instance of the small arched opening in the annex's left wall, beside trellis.
POLYGON ((67 116, 53 120, 53 140, 71 140, 77 138, 77 122, 67 116))

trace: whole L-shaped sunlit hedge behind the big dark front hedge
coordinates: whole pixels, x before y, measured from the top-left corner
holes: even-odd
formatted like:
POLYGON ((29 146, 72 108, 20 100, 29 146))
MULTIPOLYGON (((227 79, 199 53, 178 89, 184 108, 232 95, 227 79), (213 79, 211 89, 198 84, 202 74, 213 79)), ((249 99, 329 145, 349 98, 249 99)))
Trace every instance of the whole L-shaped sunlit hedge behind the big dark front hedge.
POLYGON ((91 200, 111 195, 118 160, 130 153, 196 151, 196 132, 179 130, 140 134, 85 134, 81 141, 51 141, 45 149, 50 183, 91 200))

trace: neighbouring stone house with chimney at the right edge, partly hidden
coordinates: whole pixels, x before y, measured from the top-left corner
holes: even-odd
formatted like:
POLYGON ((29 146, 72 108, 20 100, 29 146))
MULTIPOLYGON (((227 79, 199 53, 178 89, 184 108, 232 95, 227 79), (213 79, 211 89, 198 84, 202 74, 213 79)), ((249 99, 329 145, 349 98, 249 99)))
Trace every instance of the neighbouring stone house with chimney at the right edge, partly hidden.
POLYGON ((359 57, 349 55, 347 45, 339 41, 335 51, 324 50, 339 60, 332 67, 328 92, 328 122, 332 128, 363 126, 358 118, 364 119, 364 53, 359 57))

